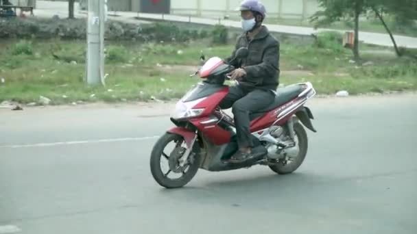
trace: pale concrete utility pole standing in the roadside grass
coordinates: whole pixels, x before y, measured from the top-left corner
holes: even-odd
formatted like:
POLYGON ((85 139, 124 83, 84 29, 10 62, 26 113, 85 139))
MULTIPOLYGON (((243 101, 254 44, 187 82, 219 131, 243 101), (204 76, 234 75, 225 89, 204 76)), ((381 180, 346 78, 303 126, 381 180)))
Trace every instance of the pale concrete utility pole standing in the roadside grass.
POLYGON ((86 83, 104 85, 104 23, 107 0, 88 1, 86 83))

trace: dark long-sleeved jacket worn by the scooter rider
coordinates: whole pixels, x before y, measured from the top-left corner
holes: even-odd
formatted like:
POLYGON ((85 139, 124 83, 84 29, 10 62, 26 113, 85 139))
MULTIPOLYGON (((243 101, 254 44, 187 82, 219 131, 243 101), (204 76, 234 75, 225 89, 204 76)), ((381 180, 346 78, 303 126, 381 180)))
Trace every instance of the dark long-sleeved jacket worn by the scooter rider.
POLYGON ((240 47, 246 47, 249 55, 246 59, 235 60, 230 65, 241 67, 246 71, 239 83, 247 88, 263 88, 276 90, 279 78, 279 42, 270 34, 267 27, 262 26, 261 31, 249 41, 246 33, 237 39, 235 51, 232 56, 226 58, 226 62, 235 57, 235 52, 240 47))

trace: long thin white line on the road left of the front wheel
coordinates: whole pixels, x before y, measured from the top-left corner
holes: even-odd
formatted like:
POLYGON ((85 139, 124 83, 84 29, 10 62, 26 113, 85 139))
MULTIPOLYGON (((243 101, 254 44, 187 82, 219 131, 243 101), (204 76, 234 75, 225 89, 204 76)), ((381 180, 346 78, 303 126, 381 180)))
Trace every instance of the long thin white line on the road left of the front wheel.
POLYGON ((106 142, 134 142, 134 141, 141 141, 141 140, 151 140, 151 139, 156 139, 156 138, 159 138, 159 136, 155 135, 152 137, 143 137, 143 138, 115 138, 115 139, 102 139, 102 140, 80 140, 80 141, 72 141, 72 142, 15 144, 15 145, 0 146, 0 148, 33 148, 33 147, 51 147, 51 146, 61 146, 61 145, 93 144, 93 143, 106 143, 106 142))

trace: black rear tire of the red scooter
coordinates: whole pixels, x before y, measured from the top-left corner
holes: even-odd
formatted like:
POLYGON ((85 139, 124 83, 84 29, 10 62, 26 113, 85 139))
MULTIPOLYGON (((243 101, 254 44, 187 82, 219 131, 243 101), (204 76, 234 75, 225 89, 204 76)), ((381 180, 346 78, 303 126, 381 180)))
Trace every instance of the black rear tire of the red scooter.
POLYGON ((300 122, 294 122, 294 131, 296 132, 296 136, 298 138, 298 142, 296 143, 298 144, 300 151, 298 152, 298 156, 295 157, 291 163, 285 165, 283 161, 280 161, 278 164, 270 166, 271 170, 278 174, 289 174, 294 172, 301 166, 307 155, 307 148, 309 146, 307 132, 304 127, 302 127, 300 122))

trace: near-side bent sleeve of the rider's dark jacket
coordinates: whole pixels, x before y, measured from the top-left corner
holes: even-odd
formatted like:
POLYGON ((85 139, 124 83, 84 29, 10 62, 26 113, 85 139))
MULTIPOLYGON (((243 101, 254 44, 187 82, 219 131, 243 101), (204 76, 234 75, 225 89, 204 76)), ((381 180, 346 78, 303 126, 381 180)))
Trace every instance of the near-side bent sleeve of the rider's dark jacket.
POLYGON ((275 71, 278 70, 278 63, 279 44, 275 42, 263 51, 261 64, 243 67, 246 71, 246 77, 244 79, 254 83, 261 83, 263 78, 274 75, 275 71))

